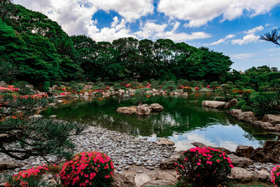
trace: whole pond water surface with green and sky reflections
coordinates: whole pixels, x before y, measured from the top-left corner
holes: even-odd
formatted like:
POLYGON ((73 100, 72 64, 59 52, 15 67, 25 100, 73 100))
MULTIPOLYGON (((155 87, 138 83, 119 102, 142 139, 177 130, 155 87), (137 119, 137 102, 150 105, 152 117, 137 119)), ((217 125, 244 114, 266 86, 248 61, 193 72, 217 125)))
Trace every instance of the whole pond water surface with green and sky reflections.
POLYGON ((110 130, 125 132, 156 140, 166 137, 175 142, 176 150, 186 150, 191 143, 198 141, 208 146, 221 146, 235 151, 239 144, 262 146, 267 139, 276 139, 257 127, 241 123, 232 118, 225 110, 210 109, 202 106, 202 101, 213 100, 211 93, 192 93, 186 97, 151 97, 147 104, 161 104, 165 110, 149 116, 123 115, 116 112, 121 106, 134 105, 130 100, 118 98, 87 102, 72 102, 58 108, 49 108, 44 116, 57 115, 69 121, 100 125, 110 130))

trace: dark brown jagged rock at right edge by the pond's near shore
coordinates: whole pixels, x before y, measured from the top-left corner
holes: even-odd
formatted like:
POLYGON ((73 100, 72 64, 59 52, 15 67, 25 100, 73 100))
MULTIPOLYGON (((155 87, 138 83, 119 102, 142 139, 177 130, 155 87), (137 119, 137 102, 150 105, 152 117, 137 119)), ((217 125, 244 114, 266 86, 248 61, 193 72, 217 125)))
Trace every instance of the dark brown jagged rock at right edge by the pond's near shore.
POLYGON ((263 147, 256 148, 250 158, 262 163, 280 163, 280 141, 265 141, 263 147))

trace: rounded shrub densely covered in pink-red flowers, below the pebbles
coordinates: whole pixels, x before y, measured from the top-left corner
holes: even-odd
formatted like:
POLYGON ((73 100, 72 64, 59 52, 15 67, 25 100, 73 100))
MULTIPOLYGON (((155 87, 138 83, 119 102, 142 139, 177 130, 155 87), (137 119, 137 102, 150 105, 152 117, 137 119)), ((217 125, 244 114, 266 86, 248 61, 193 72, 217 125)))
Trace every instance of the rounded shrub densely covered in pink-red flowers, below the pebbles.
POLYGON ((64 163, 60 172, 64 186, 111 186, 113 176, 111 158, 95 151, 78 153, 64 163))

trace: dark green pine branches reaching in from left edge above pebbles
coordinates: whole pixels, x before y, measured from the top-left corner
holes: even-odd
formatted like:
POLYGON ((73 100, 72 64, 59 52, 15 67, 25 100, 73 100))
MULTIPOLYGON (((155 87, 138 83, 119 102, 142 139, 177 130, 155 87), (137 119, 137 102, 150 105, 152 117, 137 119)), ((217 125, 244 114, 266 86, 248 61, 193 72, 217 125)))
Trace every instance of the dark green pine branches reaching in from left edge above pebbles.
POLYGON ((0 94, 0 152, 17 160, 48 154, 70 158, 74 145, 69 137, 83 130, 83 125, 30 118, 48 106, 48 98, 8 92, 0 94))

